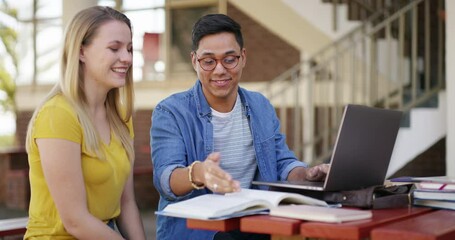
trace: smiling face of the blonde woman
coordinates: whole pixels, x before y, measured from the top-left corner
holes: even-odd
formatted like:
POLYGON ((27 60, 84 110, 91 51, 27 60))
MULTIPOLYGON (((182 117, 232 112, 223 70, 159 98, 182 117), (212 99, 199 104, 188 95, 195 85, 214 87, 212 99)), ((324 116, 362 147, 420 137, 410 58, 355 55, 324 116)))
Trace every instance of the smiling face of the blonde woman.
POLYGON ((106 92, 123 87, 133 61, 132 48, 128 25, 116 20, 101 25, 80 51, 85 87, 106 92))

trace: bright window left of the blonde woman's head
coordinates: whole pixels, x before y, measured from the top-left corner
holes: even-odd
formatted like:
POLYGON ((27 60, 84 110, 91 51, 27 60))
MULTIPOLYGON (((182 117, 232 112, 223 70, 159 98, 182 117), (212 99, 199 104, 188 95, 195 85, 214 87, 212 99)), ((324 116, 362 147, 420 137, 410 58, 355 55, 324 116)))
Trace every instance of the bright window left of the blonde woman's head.
POLYGON ((17 9, 18 12, 16 51, 19 66, 16 83, 18 85, 33 82, 45 84, 57 81, 59 46, 62 35, 61 0, 37 1, 35 26, 33 24, 33 0, 7 0, 6 2, 9 7, 17 9))

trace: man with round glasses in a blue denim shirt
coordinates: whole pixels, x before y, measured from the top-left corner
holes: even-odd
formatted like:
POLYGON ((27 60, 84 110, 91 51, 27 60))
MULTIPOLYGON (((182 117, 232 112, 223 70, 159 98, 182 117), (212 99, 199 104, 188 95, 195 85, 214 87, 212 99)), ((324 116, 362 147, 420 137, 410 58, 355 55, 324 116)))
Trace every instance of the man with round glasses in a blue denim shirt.
MULTIPOLYGON (((160 102, 152 115, 151 148, 158 210, 207 193, 252 188, 253 180, 323 180, 326 165, 307 168, 286 145, 275 109, 260 93, 239 87, 246 64, 240 25, 223 14, 199 19, 191 61, 198 80, 160 102)), ((158 216, 157 239, 267 239, 186 227, 158 216)))

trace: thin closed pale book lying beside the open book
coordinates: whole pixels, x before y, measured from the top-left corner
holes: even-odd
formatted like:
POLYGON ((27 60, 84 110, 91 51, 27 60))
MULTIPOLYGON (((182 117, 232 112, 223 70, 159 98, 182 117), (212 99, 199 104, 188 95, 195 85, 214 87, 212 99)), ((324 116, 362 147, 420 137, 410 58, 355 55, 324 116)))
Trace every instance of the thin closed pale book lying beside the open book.
POLYGON ((370 219, 370 210, 333 208, 310 205, 286 205, 270 209, 270 216, 302 219, 307 221, 341 223, 370 219))

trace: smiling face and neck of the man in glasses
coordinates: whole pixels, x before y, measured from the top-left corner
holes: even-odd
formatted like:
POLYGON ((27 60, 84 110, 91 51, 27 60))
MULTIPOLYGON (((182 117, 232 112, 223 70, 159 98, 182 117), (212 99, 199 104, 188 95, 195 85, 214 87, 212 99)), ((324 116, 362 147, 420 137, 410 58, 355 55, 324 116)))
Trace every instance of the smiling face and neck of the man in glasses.
MULTIPOLYGON (((229 32, 206 35, 199 41, 198 49, 191 54, 193 68, 202 83, 202 91, 209 105, 219 112, 232 110, 237 98, 237 90, 242 70, 246 63, 245 49, 241 49, 235 35, 229 32), (222 61, 226 57, 240 56, 238 64, 228 69, 222 61), (201 67, 207 58, 216 61, 213 70, 201 67), (198 61, 199 60, 199 61, 198 61)), ((225 61, 225 65, 229 63, 225 61)))

